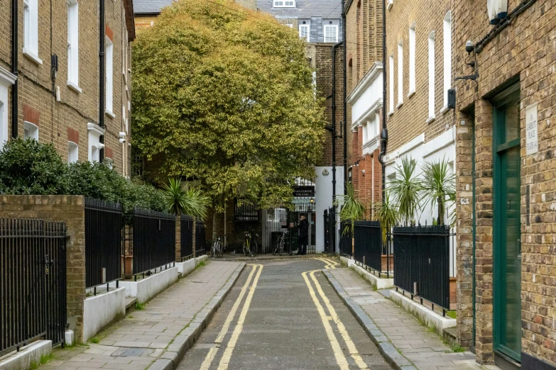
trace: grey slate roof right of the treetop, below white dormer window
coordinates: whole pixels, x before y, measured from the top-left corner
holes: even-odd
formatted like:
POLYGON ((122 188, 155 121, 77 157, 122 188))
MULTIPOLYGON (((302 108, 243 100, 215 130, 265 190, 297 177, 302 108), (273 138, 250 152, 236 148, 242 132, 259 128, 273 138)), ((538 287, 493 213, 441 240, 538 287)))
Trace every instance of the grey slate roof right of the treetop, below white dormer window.
POLYGON ((273 0, 257 0, 257 8, 280 18, 342 17, 341 0, 296 0, 295 8, 273 8, 273 0))

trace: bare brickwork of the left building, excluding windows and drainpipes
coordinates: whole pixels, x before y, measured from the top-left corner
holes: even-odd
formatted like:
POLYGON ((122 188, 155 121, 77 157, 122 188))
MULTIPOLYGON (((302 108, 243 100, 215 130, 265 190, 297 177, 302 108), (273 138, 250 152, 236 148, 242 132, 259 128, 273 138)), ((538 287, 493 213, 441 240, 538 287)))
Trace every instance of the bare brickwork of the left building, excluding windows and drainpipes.
MULTIPOLYGON (((114 33, 115 117, 105 115, 104 143, 113 151, 114 168, 120 173, 129 168, 129 164, 126 163, 127 155, 123 154, 124 145, 119 143, 119 133, 126 132, 123 107, 125 116, 129 117, 128 101, 131 96, 128 68, 123 65, 126 58, 131 59, 131 48, 126 36, 124 1, 127 0, 107 1, 105 13, 106 24, 114 33)), ((99 4, 85 1, 79 5, 79 87, 82 92, 77 92, 67 85, 67 1, 52 2, 53 13, 64 15, 52 18, 52 22, 50 1, 39 0, 38 9, 38 57, 43 61, 42 64, 23 55, 23 21, 19 22, 18 28, 18 136, 23 137, 23 106, 31 107, 40 113, 39 141, 52 143, 60 155, 67 159, 67 132, 68 129, 76 130, 80 142, 79 159, 85 161, 88 159, 87 123, 99 123, 99 4), (54 79, 50 74, 50 55, 58 55, 58 72, 54 79), (60 89, 59 102, 53 93, 56 88, 60 89)), ((18 11, 21 20, 23 4, 20 4, 18 11)), ((3 6, 0 15, 7 20, 0 31, 4 36, 0 38, 0 65, 9 69, 11 6, 3 6)), ((11 113, 9 115, 11 120, 11 113)), ((129 139, 128 137, 127 142, 129 139)))

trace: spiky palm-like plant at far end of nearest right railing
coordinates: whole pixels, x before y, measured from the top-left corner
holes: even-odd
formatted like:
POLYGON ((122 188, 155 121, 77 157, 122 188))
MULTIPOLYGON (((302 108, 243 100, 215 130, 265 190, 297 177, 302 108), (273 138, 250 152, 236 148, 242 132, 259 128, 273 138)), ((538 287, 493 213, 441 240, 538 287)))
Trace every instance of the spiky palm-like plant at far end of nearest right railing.
POLYGON ((406 225, 414 220, 415 213, 420 208, 420 198, 423 193, 421 180, 415 175, 416 166, 415 159, 403 157, 401 166, 396 167, 396 178, 388 186, 396 208, 398 208, 400 219, 403 219, 406 225))

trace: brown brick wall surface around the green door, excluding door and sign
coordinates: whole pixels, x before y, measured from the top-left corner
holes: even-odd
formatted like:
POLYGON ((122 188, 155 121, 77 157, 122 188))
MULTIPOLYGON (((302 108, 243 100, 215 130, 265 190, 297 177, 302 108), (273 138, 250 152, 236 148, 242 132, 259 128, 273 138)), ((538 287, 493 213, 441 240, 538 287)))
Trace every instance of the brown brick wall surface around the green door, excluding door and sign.
MULTIPOLYGON (((508 1, 511 12, 520 4, 508 1)), ((479 361, 493 361, 493 255, 492 255, 492 107, 489 93, 518 77, 520 86, 521 145, 521 319, 522 351, 556 366, 556 288, 554 269, 555 228, 555 163, 552 113, 554 99, 556 9, 549 1, 536 1, 521 13, 477 54, 479 79, 457 83, 457 108, 474 111, 475 194, 476 194, 476 349, 479 361), (535 155, 525 153, 525 107, 538 103, 538 147, 535 155), (527 214, 526 190, 530 189, 530 214, 527 214), (530 220, 530 225, 526 221, 530 220)), ((455 4, 454 9, 455 74, 471 74, 464 45, 467 40, 478 43, 492 26, 483 1, 471 0, 455 4)), ((464 117, 463 115, 461 115, 464 117)), ((458 120, 459 122, 459 120, 458 120)), ((458 123, 459 124, 459 123, 458 123)), ((460 140, 458 145, 464 145, 460 140)), ((469 166, 468 157, 458 158, 462 169, 469 166)), ((463 184, 462 184, 463 185, 463 184)), ((459 189, 461 186, 459 186, 459 189)), ((460 196, 458 201, 468 197, 460 196)), ((465 220, 469 211, 458 213, 465 220)), ((459 221, 458 221, 459 222, 459 221)), ((469 258, 469 254, 462 256, 469 258)), ((459 268, 471 267, 463 259, 459 268)), ((469 297, 471 291, 460 295, 469 297)), ((523 356, 522 356, 523 359, 523 356)))

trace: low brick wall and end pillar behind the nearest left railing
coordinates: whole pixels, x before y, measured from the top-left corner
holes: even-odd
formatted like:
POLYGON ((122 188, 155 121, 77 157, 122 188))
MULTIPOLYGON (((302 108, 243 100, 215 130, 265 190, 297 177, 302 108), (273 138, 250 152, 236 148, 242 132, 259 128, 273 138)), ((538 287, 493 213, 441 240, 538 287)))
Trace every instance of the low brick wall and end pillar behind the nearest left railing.
POLYGON ((82 196, 0 196, 0 218, 64 221, 67 227, 67 321, 82 341, 85 301, 85 198, 82 196))

